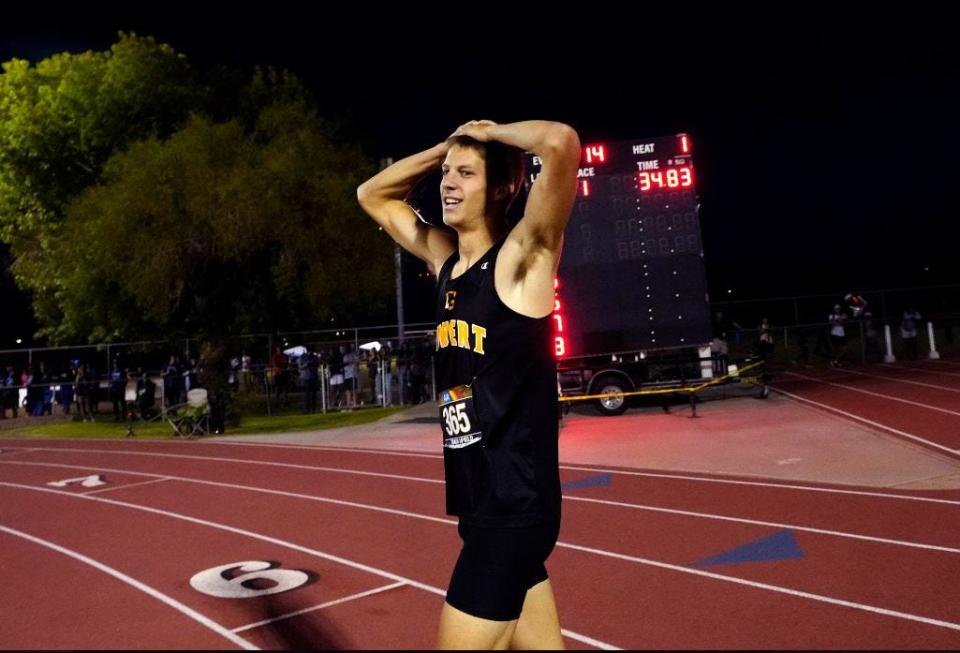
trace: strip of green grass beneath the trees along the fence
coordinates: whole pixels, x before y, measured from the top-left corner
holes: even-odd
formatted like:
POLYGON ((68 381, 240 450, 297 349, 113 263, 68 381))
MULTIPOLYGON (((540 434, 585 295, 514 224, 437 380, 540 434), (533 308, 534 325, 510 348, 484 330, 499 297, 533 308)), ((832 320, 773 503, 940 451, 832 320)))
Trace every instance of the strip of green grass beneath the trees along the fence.
MULTIPOLYGON (((345 413, 282 413, 279 415, 248 415, 240 419, 240 424, 227 427, 226 435, 247 435, 252 433, 283 433, 288 431, 319 431, 342 426, 368 424, 403 410, 403 406, 389 408, 367 408, 345 413)), ((101 422, 59 422, 23 426, 2 432, 3 437, 30 438, 123 438, 127 433, 125 422, 111 421, 111 417, 102 416, 101 422)), ((138 438, 169 439, 174 437, 173 428, 167 422, 134 422, 133 432, 138 438)))

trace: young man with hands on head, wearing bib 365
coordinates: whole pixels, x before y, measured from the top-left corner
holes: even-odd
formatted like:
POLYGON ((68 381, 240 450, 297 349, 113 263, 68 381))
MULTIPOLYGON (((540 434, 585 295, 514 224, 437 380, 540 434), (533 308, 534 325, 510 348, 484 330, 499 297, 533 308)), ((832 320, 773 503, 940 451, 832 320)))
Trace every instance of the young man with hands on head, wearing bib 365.
POLYGON ((440 648, 563 647, 544 567, 560 530, 551 313, 579 162, 567 125, 474 120, 357 189, 364 210, 437 274, 447 512, 463 539, 440 648), (542 168, 511 227, 523 150, 542 168), (443 221, 455 234, 404 202, 438 167, 443 221))

